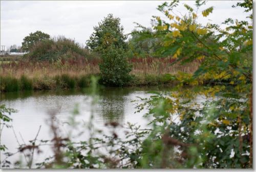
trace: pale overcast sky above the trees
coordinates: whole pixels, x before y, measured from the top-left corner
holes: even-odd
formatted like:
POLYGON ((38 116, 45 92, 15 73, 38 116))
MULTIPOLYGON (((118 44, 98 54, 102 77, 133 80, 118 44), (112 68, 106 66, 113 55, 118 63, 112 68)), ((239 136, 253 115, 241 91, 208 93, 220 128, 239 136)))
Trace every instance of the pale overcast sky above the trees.
MULTIPOLYGON (((125 33, 130 33, 134 22, 150 27, 152 15, 163 16, 156 8, 164 1, 1 1, 1 45, 21 46, 23 38, 40 30, 51 36, 64 35, 75 39, 81 45, 93 32, 93 27, 109 13, 121 18, 125 33)), ((231 8, 238 1, 208 1, 214 6, 209 15, 212 22, 221 24, 226 18, 244 19, 242 8, 231 8)), ((177 8, 184 13, 183 4, 194 1, 180 1, 177 8)), ((201 13, 201 11, 199 11, 201 13)), ((206 23, 205 17, 200 22, 206 23)))

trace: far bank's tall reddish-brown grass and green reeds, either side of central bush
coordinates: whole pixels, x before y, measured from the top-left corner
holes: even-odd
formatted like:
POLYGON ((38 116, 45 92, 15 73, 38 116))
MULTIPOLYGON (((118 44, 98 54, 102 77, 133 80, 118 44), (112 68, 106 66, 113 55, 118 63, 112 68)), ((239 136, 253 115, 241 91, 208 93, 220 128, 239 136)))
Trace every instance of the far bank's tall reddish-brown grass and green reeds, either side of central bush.
MULTIPOLYGON (((191 75, 199 66, 170 65, 170 58, 131 58, 132 80, 125 86, 179 82, 179 73, 191 75), (177 77, 176 77, 177 76, 177 77)), ((56 62, 26 60, 1 63, 1 91, 74 89, 90 86, 92 75, 99 77, 100 59, 69 59, 56 62)), ((99 80, 100 82, 100 80, 99 80)))

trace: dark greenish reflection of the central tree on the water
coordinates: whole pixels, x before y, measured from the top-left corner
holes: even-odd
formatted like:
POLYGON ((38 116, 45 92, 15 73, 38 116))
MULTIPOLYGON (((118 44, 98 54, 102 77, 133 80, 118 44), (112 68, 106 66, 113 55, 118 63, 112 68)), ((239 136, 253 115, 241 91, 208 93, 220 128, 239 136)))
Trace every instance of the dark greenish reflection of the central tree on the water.
POLYGON ((124 122, 126 88, 106 88, 99 91, 99 116, 103 122, 124 122))

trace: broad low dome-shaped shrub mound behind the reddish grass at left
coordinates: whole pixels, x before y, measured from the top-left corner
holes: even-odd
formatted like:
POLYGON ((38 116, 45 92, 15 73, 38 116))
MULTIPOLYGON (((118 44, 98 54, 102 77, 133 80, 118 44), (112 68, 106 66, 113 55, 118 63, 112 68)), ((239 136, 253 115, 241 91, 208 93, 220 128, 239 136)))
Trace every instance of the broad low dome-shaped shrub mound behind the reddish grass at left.
POLYGON ((86 49, 81 48, 75 40, 59 36, 37 42, 25 57, 30 60, 56 61, 58 59, 89 58, 90 54, 86 49))

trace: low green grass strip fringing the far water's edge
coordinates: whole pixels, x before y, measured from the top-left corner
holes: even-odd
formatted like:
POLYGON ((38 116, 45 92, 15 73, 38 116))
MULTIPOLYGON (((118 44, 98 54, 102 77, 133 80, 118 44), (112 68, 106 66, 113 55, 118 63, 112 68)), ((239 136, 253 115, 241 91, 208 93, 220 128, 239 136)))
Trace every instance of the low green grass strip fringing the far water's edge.
MULTIPOLYGON (((20 78, 1 76, 1 91, 13 92, 13 91, 27 91, 27 90, 56 90, 56 89, 79 89, 87 88, 91 85, 92 75, 79 75, 72 76, 69 74, 56 75, 54 77, 44 78, 29 78, 26 75, 22 75, 20 78)), ((99 78, 99 84, 101 83, 100 76, 95 74, 94 76, 99 78)), ((172 83, 175 81, 172 75, 161 74, 152 75, 145 74, 135 76, 125 86, 140 86, 140 85, 158 85, 165 83, 172 83)))

